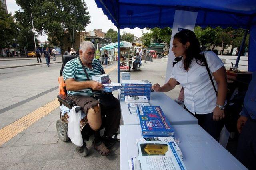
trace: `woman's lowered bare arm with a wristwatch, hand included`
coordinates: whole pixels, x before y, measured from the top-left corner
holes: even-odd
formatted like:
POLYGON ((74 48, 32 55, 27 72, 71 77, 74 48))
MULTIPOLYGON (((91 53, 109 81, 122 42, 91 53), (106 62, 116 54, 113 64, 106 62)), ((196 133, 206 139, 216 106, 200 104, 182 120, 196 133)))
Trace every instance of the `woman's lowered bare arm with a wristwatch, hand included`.
MULTIPOLYGON (((218 96, 216 104, 223 106, 226 101, 227 91, 228 91, 228 84, 227 84, 227 74, 226 69, 222 66, 216 72, 212 73, 214 76, 214 80, 218 84, 218 96)), ((221 110, 219 107, 215 107, 213 111, 213 120, 220 120, 225 117, 224 110, 221 110)))

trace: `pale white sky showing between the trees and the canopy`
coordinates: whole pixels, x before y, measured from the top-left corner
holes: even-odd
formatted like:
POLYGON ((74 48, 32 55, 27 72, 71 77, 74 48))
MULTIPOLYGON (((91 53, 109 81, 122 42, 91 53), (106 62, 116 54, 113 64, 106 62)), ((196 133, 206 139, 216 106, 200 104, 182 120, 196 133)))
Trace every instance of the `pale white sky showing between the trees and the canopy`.
MULTIPOLYGON (((93 29, 102 29, 102 31, 106 33, 110 28, 117 31, 116 26, 110 20, 108 20, 108 17, 103 14, 101 9, 97 8, 97 5, 94 0, 84 0, 84 1, 86 2, 87 11, 89 11, 89 15, 91 17, 90 18, 91 23, 89 23, 85 28, 87 32, 92 31, 93 29)), ((20 9, 20 6, 16 4, 15 0, 6 0, 6 4, 7 4, 8 13, 12 12, 12 14, 14 14, 16 10, 20 9)), ((120 29, 120 33, 122 35, 124 32, 128 32, 128 33, 130 32, 130 33, 133 33, 136 37, 141 37, 142 30, 146 32, 146 28, 144 29, 125 28, 125 29, 120 29)), ((43 36, 38 35, 38 39, 41 42, 48 41, 46 35, 43 35, 43 36)))

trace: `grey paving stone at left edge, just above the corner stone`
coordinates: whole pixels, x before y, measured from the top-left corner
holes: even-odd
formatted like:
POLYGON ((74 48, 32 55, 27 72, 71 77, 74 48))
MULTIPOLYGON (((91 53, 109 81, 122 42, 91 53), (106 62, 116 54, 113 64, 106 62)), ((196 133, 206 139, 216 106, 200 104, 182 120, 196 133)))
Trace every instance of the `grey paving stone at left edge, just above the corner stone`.
MULTIPOLYGON (((0 148, 0 164, 21 163, 22 159, 30 152, 33 146, 4 147, 0 148)), ((31 162, 31 161, 28 161, 31 162)))

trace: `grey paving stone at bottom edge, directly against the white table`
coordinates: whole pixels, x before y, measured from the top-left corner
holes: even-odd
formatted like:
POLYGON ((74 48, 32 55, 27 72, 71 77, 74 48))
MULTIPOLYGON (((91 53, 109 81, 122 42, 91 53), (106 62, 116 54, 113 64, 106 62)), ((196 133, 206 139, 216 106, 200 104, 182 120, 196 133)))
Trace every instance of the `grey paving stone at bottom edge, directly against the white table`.
MULTIPOLYGON (((127 160, 128 161, 128 160, 127 160)), ((119 170, 120 156, 99 156, 96 157, 96 170, 119 170)))

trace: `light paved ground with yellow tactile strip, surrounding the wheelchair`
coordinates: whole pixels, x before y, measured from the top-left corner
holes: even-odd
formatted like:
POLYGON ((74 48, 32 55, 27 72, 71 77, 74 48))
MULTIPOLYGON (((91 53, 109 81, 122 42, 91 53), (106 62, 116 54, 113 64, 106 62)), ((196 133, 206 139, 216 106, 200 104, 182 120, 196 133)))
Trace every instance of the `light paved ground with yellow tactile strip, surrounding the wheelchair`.
MULTIPOLYGON (((36 60, 27 59, 0 63, 3 62, 10 66, 37 64, 36 60)), ((91 137, 87 142, 90 153, 83 158, 70 141, 60 141, 56 132, 60 114, 56 96, 61 64, 0 69, 0 137, 6 136, 5 141, 0 141, 0 169, 120 169, 119 142, 110 156, 104 157, 93 149, 91 137)), ((131 79, 148 79, 163 85, 166 65, 166 58, 147 61, 141 72, 131 71, 131 79)), ((103 66, 112 82, 117 82, 116 62, 103 66)), ((178 92, 176 87, 166 94, 176 98, 178 92)), ((113 94, 117 97, 117 91, 113 94)))

